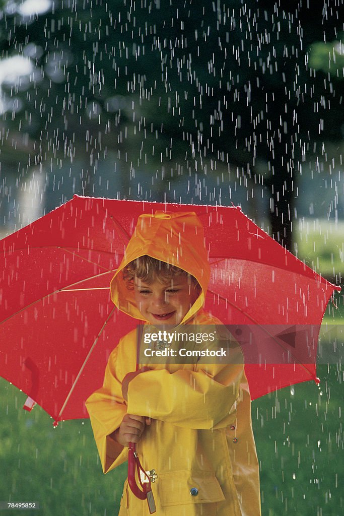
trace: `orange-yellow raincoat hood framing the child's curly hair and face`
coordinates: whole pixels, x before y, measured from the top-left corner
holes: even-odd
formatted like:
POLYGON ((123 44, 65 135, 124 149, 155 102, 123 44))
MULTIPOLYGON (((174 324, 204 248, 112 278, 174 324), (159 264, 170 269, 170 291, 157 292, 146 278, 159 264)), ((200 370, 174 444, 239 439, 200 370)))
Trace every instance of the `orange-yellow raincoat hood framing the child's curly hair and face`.
POLYGON ((210 276, 200 219, 194 212, 161 211, 154 215, 140 215, 138 218, 123 260, 110 282, 110 289, 111 299, 117 308, 140 320, 143 317, 136 306, 134 292, 127 288, 123 280, 122 270, 128 263, 145 254, 185 270, 201 285, 202 292, 181 321, 183 324, 204 304, 210 276))

